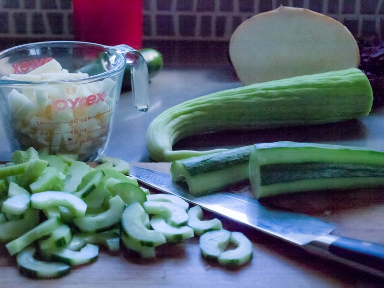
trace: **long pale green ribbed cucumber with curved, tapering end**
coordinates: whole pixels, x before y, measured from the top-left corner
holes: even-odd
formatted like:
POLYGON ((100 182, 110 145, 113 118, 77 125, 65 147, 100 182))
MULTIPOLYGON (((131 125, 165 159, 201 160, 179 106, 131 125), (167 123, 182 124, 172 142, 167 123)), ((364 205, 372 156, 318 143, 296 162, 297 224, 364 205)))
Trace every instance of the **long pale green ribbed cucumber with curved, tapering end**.
POLYGON ((255 83, 199 96, 168 108, 149 125, 146 146, 157 162, 223 151, 173 150, 188 136, 326 124, 366 116, 372 88, 357 68, 255 83))

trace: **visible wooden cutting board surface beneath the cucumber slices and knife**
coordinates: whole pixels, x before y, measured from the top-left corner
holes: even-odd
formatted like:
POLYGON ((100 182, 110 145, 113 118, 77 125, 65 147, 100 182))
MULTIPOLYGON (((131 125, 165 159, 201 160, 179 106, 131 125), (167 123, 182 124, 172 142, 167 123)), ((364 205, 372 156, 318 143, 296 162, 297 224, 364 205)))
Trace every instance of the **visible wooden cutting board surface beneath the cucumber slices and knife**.
MULTIPOLYGON (((169 173, 169 163, 131 165, 169 173)), ((251 195, 243 183, 231 192, 251 195)), ((155 192, 155 191, 152 191, 155 192)), ((265 205, 316 216, 338 226, 334 234, 384 244, 384 189, 300 193, 268 199, 265 205)), ((205 218, 217 217, 205 212, 205 218)), ((221 219, 224 228, 241 231, 254 243, 254 258, 239 269, 226 269, 200 256, 198 238, 158 247, 157 258, 142 260, 122 249, 100 248, 96 262, 73 268, 65 277, 31 280, 19 274, 14 257, 0 248, 0 287, 383 287, 384 280, 303 252, 251 228, 221 219)))

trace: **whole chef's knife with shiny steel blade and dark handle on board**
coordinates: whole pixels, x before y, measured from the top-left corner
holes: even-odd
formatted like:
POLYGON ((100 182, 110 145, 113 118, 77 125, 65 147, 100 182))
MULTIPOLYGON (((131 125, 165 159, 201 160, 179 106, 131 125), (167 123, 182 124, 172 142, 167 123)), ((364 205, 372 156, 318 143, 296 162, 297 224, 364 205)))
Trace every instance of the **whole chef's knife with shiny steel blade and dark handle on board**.
POLYGON ((218 192, 193 196, 186 187, 174 183, 170 175, 140 167, 129 174, 140 183, 161 192, 177 195, 225 218, 256 228, 303 249, 348 266, 384 277, 384 245, 330 234, 336 225, 320 219, 262 206, 256 199, 218 192))

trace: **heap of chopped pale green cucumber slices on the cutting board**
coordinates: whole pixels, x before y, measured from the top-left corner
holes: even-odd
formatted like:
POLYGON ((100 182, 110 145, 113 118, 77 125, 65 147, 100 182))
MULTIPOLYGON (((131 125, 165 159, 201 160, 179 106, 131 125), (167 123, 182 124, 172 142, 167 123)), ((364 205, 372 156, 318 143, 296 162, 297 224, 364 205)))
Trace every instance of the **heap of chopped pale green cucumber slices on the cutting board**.
POLYGON ((33 148, 12 153, 0 166, 0 242, 20 273, 62 277, 95 261, 100 245, 151 259, 156 247, 195 236, 204 258, 231 266, 252 259, 242 233, 223 229, 219 219, 203 220, 199 206, 177 196, 150 194, 128 172, 127 162, 109 157, 91 167, 33 148))

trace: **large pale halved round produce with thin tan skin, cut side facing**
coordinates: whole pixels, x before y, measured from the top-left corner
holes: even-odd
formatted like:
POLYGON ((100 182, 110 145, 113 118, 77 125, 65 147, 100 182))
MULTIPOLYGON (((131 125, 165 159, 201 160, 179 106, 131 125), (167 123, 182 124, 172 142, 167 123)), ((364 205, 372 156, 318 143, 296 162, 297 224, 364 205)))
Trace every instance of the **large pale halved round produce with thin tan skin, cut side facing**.
POLYGON ((229 57, 244 85, 358 67, 352 33, 326 15, 280 6, 233 32, 229 57))

